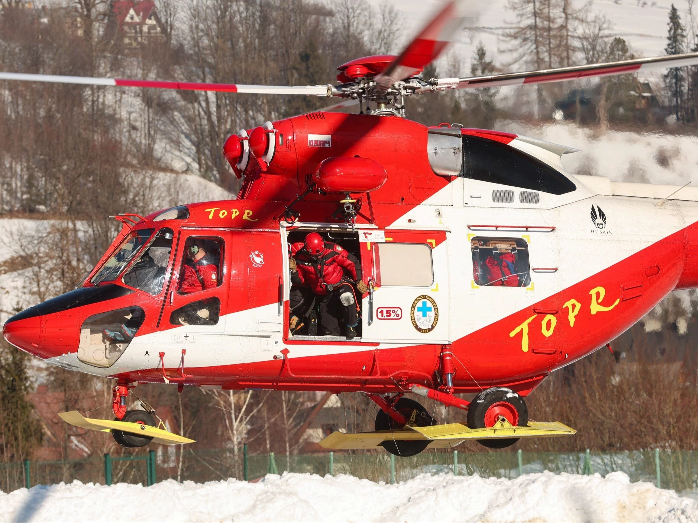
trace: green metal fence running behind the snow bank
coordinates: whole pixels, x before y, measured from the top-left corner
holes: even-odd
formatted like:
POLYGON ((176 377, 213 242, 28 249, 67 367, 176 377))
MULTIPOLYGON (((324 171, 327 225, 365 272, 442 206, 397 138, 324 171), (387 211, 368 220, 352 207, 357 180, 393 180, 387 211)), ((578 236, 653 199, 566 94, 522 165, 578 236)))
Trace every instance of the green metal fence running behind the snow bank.
POLYGON ((120 455, 94 455, 84 460, 0 463, 0 490, 53 483, 140 483, 154 485, 172 478, 179 481, 255 480, 267 473, 284 471, 350 474, 372 481, 396 483, 421 473, 451 473, 459 476, 514 479, 521 474, 553 473, 605 476, 623 471, 631 481, 648 481, 659 487, 686 492, 698 490, 698 455, 688 450, 628 450, 623 452, 459 453, 426 451, 413 457, 388 453, 325 453, 313 455, 248 454, 247 448, 190 450, 158 446, 120 455))

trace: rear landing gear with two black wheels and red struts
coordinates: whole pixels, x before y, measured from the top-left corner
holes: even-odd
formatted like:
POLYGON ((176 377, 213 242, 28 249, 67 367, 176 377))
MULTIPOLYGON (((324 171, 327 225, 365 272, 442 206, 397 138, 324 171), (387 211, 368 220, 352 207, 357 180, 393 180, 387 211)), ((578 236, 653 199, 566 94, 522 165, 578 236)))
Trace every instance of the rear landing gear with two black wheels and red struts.
MULTIPOLYGON (((450 407, 468 411, 468 428, 484 429, 501 425, 504 421, 514 427, 528 425, 528 408, 523 398, 509 388, 493 387, 482 391, 467 402, 449 393, 436 391, 421 385, 410 386, 414 394, 429 397, 450 407)), ((402 397, 402 393, 389 395, 368 395, 378 404, 380 411, 376 415, 376 431, 391 432, 408 427, 431 427, 438 425, 428 411, 414 400, 402 397)), ((512 446, 519 438, 478 439, 477 442, 487 448, 506 448, 512 446)), ((383 441, 380 446, 396 456, 408 457, 417 455, 424 450, 431 440, 393 439, 383 441)))

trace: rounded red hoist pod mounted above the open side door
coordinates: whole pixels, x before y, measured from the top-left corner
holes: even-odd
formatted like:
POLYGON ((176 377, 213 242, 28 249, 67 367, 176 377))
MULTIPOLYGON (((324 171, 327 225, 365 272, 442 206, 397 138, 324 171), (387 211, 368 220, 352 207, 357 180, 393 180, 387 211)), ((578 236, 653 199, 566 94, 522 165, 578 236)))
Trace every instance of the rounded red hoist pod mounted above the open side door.
POLYGON ((313 174, 323 192, 371 192, 380 189, 388 175, 383 165, 370 158, 332 157, 322 160, 313 174))

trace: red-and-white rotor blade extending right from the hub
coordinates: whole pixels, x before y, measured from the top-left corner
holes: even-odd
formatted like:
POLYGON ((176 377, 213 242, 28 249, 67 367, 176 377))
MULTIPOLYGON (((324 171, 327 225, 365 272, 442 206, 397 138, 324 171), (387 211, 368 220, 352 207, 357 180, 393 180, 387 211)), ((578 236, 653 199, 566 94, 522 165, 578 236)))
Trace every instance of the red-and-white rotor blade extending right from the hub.
MULTIPOLYGON (((638 71, 667 69, 698 65, 698 52, 671 54, 653 58, 639 58, 619 62, 594 63, 589 66, 563 67, 529 71, 528 73, 506 73, 503 75, 475 76, 467 78, 438 78, 436 86, 445 89, 480 89, 506 85, 544 84, 566 82, 579 78, 624 75, 638 71)), ((427 91, 428 89, 423 89, 427 91)))

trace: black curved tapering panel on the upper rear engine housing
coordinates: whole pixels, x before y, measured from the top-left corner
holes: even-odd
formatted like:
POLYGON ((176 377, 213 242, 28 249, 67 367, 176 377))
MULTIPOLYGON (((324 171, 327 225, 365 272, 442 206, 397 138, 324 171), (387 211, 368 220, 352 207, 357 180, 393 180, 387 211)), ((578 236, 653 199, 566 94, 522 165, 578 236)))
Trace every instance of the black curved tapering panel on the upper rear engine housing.
POLYGON ((491 139, 463 135, 461 175, 553 195, 572 192, 577 186, 553 167, 518 149, 491 139))

